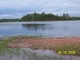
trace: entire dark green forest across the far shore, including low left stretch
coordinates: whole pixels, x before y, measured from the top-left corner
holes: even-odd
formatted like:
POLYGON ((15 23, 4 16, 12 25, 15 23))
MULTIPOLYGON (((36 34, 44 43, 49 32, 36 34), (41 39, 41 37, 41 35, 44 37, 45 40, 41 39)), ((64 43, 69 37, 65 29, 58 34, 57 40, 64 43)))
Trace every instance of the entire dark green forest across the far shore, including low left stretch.
POLYGON ((63 16, 58 16, 51 13, 31 13, 26 14, 21 19, 0 19, 0 22, 25 22, 25 21, 70 21, 80 20, 80 17, 71 17, 68 13, 63 13, 63 16))

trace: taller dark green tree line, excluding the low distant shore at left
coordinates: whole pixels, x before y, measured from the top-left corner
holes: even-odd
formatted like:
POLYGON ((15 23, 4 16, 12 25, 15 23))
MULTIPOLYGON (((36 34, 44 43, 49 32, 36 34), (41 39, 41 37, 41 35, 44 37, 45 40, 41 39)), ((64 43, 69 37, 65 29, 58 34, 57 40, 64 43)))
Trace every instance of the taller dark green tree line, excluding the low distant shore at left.
POLYGON ((58 16, 54 14, 46 13, 32 13, 22 17, 21 21, 61 21, 61 20, 80 20, 80 17, 70 17, 69 14, 63 14, 58 16))

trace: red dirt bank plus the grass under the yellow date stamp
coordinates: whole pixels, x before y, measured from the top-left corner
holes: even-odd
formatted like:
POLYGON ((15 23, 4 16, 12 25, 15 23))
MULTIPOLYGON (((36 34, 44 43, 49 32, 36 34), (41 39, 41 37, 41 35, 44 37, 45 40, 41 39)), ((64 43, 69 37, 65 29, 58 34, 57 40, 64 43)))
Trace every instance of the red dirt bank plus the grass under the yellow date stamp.
POLYGON ((74 51, 74 55, 80 55, 80 37, 64 38, 24 38, 16 39, 8 44, 10 48, 32 48, 32 49, 49 49, 55 50, 56 53, 61 51, 62 54, 73 55, 68 53, 74 51), (66 51, 67 53, 64 53, 66 51))

